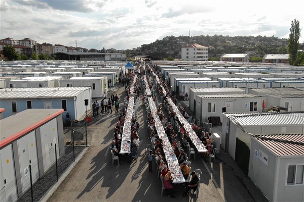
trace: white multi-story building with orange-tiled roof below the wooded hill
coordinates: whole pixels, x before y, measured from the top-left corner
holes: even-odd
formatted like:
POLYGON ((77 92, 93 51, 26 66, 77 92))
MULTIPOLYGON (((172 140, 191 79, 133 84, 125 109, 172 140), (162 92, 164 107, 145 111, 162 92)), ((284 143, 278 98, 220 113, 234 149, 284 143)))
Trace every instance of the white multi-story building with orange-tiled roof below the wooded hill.
POLYGON ((194 43, 181 48, 181 60, 208 61, 208 47, 194 43))

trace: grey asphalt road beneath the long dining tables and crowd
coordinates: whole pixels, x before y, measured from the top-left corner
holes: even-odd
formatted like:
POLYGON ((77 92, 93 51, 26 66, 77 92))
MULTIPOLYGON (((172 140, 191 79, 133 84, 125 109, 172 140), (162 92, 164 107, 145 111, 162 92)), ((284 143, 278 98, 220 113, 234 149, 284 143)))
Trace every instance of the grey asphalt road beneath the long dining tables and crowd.
MULTIPOLYGON (((120 104, 124 87, 115 88, 120 104)), ((112 166, 109 145, 119 114, 99 115, 88 126, 89 149, 49 201, 189 201, 182 196, 183 185, 175 185, 176 198, 161 196, 161 180, 149 175, 145 147, 147 134, 146 110, 139 102, 139 158, 132 164, 117 161, 112 166)), ((216 129, 214 129, 216 130, 216 129)), ((214 131, 213 130, 213 131, 214 131)), ((192 169, 201 169, 199 198, 194 201, 268 201, 253 182, 243 174, 234 160, 221 149, 215 163, 208 164, 197 156, 192 169)), ((155 163, 155 162, 153 162, 155 163)))

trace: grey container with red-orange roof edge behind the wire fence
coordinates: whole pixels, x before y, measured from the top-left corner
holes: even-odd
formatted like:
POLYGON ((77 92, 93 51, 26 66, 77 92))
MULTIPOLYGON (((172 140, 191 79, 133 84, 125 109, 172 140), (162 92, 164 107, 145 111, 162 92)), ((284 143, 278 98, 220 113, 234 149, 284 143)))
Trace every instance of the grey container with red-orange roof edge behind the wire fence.
POLYGON ((16 201, 64 155, 62 109, 29 109, 0 120, 0 197, 16 201), (18 123, 18 124, 16 124, 18 123))

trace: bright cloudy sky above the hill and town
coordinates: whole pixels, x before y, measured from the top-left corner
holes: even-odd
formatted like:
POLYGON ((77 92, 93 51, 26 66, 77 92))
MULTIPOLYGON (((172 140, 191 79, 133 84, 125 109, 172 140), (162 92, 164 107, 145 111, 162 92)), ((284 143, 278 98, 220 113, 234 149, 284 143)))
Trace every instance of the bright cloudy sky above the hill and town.
MULTIPOLYGON (((0 38, 66 46, 131 49, 166 36, 304 37, 304 1, 0 0, 0 38), (275 3, 272 3, 275 2, 275 3)), ((205 44, 202 44, 205 45, 205 44)))

